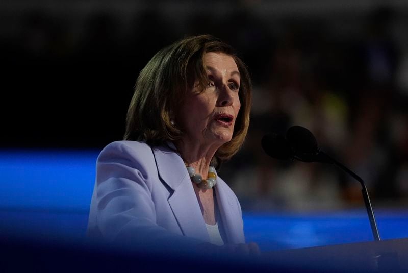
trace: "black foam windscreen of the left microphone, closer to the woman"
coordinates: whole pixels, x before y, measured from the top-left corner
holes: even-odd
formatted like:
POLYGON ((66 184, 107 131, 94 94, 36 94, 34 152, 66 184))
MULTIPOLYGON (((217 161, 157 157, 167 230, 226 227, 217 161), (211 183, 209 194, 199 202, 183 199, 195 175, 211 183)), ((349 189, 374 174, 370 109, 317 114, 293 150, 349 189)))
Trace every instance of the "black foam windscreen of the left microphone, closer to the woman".
POLYGON ((265 153, 279 160, 290 160, 293 157, 293 152, 288 141, 276 133, 269 133, 262 137, 262 148, 265 153))

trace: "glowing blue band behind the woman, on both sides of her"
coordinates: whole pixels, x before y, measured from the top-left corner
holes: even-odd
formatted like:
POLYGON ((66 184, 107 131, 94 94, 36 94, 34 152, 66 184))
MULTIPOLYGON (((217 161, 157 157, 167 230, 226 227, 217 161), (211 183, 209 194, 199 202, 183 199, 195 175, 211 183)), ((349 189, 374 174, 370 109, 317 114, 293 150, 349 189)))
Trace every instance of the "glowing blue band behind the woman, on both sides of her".
MULTIPOLYGON (((0 151, 0 235, 44 240, 85 236, 99 151, 0 151)), ((382 239, 408 237, 408 212, 375 210, 382 239)), ((243 214, 247 241, 261 250, 373 240, 361 210, 243 214)))

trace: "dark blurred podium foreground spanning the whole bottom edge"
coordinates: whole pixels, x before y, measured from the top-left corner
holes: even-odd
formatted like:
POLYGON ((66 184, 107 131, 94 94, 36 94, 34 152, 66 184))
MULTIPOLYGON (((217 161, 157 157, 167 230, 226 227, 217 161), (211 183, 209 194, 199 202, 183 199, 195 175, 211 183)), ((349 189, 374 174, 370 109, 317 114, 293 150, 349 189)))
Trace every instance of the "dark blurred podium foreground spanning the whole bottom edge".
POLYGON ((1 236, 0 249, 5 272, 408 272, 408 238, 271 251, 261 257, 128 251, 1 236))

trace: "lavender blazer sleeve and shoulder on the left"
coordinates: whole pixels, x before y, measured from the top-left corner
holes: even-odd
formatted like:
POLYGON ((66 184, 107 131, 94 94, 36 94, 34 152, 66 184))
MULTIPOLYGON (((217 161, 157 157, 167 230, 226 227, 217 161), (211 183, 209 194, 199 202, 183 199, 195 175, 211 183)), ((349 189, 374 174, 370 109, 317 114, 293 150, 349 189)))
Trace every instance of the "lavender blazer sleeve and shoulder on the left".
MULTIPOLYGON (((88 235, 98 234, 108 242, 132 247, 153 246, 172 250, 174 247, 186 249, 203 243, 156 224, 149 174, 152 164, 146 163, 155 161, 150 147, 145 144, 144 147, 150 151, 141 151, 143 161, 123 142, 113 142, 100 153, 88 235)), ((156 169, 156 165, 154 167, 156 169)))

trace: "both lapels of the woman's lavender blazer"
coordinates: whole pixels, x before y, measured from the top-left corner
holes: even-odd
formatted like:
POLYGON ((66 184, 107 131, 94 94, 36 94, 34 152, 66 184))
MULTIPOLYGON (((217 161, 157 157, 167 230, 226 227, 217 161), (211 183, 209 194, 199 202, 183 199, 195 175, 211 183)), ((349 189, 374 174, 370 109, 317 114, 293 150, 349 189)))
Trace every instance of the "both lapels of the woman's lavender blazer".
MULTIPOLYGON (((171 143, 172 144, 172 143, 171 143)), ((170 145, 169 145, 170 146, 170 145)), ((174 147, 174 146, 173 146, 174 147)), ((174 147, 175 148, 175 147, 174 147)), ((170 147, 153 147, 157 169, 161 179, 174 191, 168 202, 183 234, 204 241, 210 241, 191 179, 180 154, 170 147)), ((242 216, 239 214, 235 195, 225 182, 217 177, 215 195, 219 216, 227 239, 224 243, 240 243, 242 237, 242 216)))

